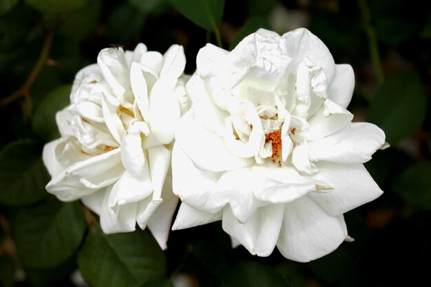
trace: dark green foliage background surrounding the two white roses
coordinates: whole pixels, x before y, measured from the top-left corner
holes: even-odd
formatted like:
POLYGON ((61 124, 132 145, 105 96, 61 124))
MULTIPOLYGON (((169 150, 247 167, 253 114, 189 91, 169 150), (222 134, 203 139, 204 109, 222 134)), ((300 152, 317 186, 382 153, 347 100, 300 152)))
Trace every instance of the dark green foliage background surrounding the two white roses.
POLYGON ((420 0, 0 0, 0 286, 414 286, 431 257, 431 3, 420 0), (209 8, 209 9, 208 9, 209 8), (186 72, 211 41, 232 48, 257 28, 304 26, 350 63, 356 121, 392 147, 366 164, 385 193, 346 214, 353 243, 308 264, 234 250, 220 222, 171 233, 103 235, 78 202, 46 193, 45 142, 81 67, 111 43, 165 52, 186 72))

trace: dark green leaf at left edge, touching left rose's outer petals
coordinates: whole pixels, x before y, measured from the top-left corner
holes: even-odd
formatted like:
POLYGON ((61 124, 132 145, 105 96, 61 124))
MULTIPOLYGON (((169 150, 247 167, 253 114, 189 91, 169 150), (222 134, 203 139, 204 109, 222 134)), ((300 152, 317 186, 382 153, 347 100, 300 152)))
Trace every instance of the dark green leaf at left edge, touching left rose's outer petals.
POLYGON ((50 176, 33 140, 12 142, 0 151, 0 203, 22 206, 44 198, 50 176))

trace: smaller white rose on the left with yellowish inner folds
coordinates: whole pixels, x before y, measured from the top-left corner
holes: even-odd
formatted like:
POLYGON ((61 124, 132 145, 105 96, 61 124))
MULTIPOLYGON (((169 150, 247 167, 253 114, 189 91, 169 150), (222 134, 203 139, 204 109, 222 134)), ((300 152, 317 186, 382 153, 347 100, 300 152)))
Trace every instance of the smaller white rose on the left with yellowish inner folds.
POLYGON ((61 138, 43 149, 63 201, 81 199, 100 215, 105 233, 149 227, 166 248, 178 198, 171 191, 171 142, 188 109, 185 55, 144 44, 107 48, 76 75, 71 104, 56 115, 61 138))

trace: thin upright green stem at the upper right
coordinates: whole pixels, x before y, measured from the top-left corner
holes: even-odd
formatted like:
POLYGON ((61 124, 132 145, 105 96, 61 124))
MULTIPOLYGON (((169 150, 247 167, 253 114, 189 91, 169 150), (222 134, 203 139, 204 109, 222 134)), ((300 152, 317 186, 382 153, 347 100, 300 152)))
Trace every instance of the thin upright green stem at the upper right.
POLYGON ((375 72, 377 85, 383 84, 385 77, 383 69, 381 68, 381 59, 379 54, 379 46, 377 45, 377 36, 374 27, 371 25, 370 10, 366 0, 358 0, 359 8, 361 9, 362 21, 364 22, 364 30, 368 39, 368 49, 370 50, 370 57, 372 68, 375 72))

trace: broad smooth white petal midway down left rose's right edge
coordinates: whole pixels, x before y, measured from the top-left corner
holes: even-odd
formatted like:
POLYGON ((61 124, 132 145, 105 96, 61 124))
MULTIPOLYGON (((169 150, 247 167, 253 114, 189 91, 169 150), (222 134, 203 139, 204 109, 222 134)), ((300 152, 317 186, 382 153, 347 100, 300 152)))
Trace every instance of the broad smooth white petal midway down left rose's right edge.
POLYGON ((174 94, 175 85, 176 79, 160 79, 149 95, 150 136, 156 136, 163 145, 174 140, 176 123, 180 118, 180 107, 174 94))

